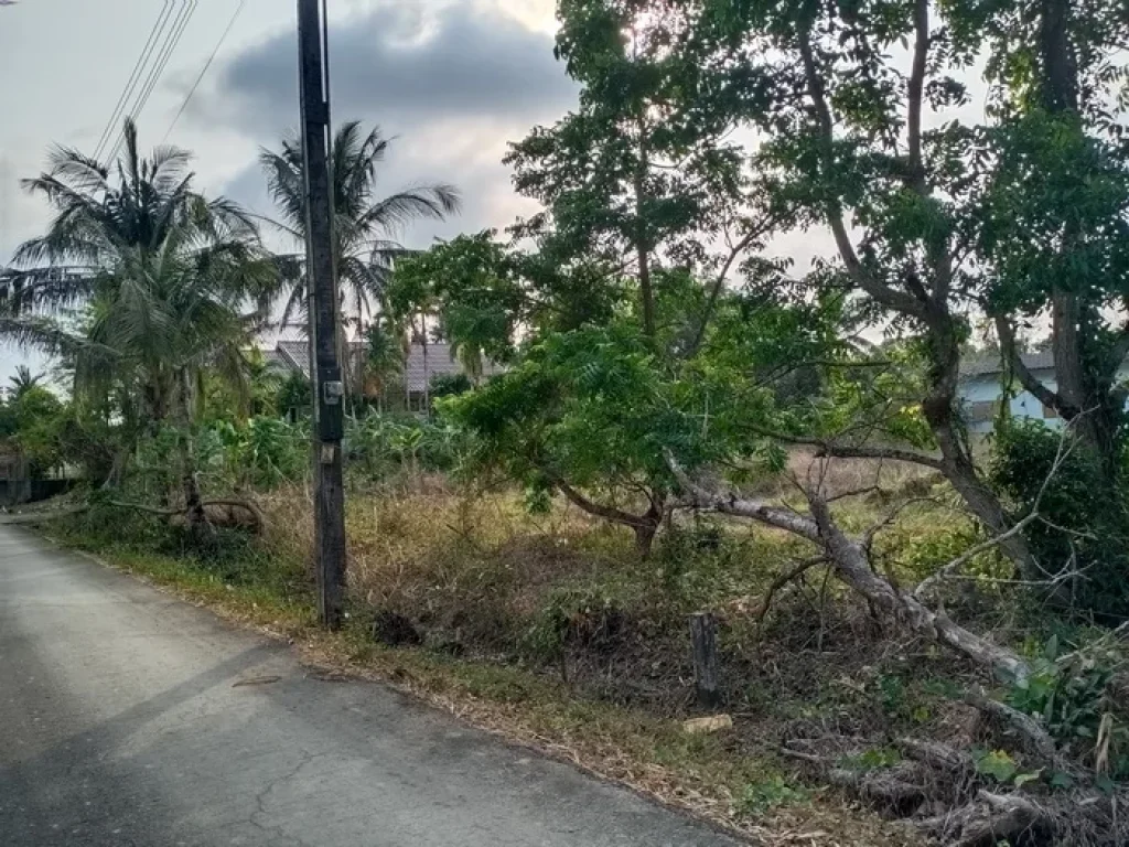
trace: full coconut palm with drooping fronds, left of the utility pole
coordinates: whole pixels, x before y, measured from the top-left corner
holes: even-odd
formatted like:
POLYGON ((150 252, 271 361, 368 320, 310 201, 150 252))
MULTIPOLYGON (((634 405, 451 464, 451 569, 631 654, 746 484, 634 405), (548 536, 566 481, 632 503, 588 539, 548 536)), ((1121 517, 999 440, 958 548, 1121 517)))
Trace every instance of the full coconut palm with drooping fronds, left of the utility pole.
POLYGON ((198 526, 207 521, 191 440, 196 385, 205 367, 245 385, 240 350, 265 320, 278 274, 246 213, 192 190, 189 158, 173 147, 141 157, 130 121, 114 166, 53 150, 50 171, 24 185, 55 218, 16 253, 17 294, 0 305, 0 335, 64 353, 76 398, 114 396, 134 438, 175 420, 198 526))

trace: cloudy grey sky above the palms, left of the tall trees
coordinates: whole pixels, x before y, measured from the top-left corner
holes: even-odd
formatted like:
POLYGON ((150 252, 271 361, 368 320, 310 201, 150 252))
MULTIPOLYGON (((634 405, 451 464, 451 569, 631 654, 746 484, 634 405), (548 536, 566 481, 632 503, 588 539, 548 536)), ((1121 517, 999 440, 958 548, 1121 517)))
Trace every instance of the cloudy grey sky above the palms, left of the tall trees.
MULTIPOLYGON (((91 152, 164 3, 186 0, 20 0, 0 7, 0 264, 43 230, 50 211, 21 177, 51 145, 91 152)), ((238 0, 195 0, 195 12, 138 117, 142 148, 193 151, 198 185, 270 212, 261 146, 298 124, 292 0, 246 0, 183 115, 185 102, 238 0)), ((382 189, 446 182, 461 216, 413 227, 410 246, 531 210, 501 165, 508 141, 576 104, 553 59, 553 0, 330 0, 333 121, 378 124, 394 139, 382 189)), ((115 129, 120 124, 114 124, 115 129)), ((0 381, 26 358, 0 348, 0 381)), ((42 361, 32 359, 33 367, 42 361)))

